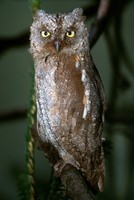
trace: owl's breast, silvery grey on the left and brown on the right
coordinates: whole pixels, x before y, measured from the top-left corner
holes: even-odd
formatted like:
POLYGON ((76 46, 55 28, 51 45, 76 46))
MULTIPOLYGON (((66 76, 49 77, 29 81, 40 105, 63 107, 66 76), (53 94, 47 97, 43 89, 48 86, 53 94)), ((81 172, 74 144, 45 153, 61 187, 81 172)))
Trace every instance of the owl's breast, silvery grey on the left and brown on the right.
POLYGON ((47 60, 36 76, 37 96, 54 132, 73 131, 83 121, 85 88, 76 56, 47 60))

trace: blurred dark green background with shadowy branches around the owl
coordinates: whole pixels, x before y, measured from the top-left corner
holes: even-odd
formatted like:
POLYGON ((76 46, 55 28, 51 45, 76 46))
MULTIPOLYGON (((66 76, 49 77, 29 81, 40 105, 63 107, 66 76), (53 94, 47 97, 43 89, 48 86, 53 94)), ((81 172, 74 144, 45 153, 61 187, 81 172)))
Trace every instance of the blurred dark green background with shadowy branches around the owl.
MULTIPOLYGON (((41 8, 68 12, 95 2, 42 0, 41 8)), ((134 199, 134 1, 117 2, 105 32, 91 51, 108 99, 103 134, 112 142, 106 159, 106 187, 97 195, 98 200, 134 199)), ((94 18, 95 14, 87 18, 89 29, 94 18)), ((28 52, 31 23, 27 0, 0 1, 0 200, 20 199, 17 179, 25 168, 26 111, 32 89, 33 61, 28 52)), ((50 173, 47 159, 36 149, 35 177, 42 200, 50 173)))

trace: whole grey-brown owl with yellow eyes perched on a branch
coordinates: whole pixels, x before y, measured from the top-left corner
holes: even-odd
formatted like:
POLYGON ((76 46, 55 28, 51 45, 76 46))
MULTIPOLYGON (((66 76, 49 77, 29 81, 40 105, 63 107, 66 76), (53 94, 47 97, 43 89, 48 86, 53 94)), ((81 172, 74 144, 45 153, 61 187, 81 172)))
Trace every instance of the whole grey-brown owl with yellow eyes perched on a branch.
MULTIPOLYGON (((36 12, 30 52, 35 63, 36 140, 50 162, 70 164, 103 191, 105 94, 89 49, 83 10, 36 12)), ((61 167, 61 166, 60 166, 61 167)))

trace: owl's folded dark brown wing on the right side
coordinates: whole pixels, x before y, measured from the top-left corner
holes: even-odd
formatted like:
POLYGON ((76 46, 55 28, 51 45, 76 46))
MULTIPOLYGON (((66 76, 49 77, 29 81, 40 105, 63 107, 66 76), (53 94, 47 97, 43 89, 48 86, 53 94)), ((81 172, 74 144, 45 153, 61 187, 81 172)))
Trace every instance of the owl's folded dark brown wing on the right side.
MULTIPOLYGON (((87 66, 87 65, 86 65, 87 66)), ((88 63, 88 81, 85 84, 85 90, 89 91, 90 109, 87 112, 84 126, 86 134, 82 139, 86 139, 86 150, 82 152, 85 155, 85 162, 81 162, 81 168, 84 169, 85 176, 90 184, 100 191, 104 188, 104 153, 102 147, 102 126, 104 113, 106 110, 106 97, 100 75, 93 63, 92 58, 88 63), (87 164, 88 163, 88 164, 87 164)))

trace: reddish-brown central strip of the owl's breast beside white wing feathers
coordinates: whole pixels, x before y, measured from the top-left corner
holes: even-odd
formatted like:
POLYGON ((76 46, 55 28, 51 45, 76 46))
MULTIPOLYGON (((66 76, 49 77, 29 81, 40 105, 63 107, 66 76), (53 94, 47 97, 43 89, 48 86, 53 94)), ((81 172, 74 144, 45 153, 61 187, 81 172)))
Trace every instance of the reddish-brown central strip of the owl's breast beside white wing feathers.
POLYGON ((84 85, 80 69, 76 67, 76 56, 61 55, 55 71, 58 110, 62 124, 75 126, 82 120, 84 110, 84 85))

